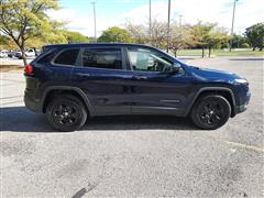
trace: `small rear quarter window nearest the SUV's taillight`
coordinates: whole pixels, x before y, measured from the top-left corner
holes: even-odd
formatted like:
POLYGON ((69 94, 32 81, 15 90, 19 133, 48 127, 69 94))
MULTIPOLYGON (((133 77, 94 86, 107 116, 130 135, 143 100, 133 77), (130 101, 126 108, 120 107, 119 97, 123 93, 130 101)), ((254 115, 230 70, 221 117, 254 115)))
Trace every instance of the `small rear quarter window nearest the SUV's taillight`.
POLYGON ((66 50, 57 56, 54 63, 61 65, 75 65, 78 53, 78 48, 66 50))

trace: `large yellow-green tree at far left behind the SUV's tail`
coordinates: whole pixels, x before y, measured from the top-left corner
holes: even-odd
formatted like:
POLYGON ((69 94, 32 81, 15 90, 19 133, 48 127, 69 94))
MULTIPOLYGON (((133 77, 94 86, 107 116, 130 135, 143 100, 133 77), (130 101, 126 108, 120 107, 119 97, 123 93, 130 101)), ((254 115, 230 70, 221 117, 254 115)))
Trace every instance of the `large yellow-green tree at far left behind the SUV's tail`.
POLYGON ((24 65, 25 42, 42 36, 43 32, 53 32, 46 11, 57 8, 57 0, 0 0, 0 31, 19 46, 24 65))

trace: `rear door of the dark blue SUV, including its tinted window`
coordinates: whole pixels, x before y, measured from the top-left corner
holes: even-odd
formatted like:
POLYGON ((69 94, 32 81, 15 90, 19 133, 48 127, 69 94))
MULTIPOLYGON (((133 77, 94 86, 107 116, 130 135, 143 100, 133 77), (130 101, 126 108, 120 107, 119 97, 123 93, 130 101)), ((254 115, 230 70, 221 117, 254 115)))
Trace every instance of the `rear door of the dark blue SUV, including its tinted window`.
POLYGON ((131 73, 122 47, 85 47, 79 66, 72 75, 73 82, 81 88, 92 107, 92 113, 129 114, 131 73))

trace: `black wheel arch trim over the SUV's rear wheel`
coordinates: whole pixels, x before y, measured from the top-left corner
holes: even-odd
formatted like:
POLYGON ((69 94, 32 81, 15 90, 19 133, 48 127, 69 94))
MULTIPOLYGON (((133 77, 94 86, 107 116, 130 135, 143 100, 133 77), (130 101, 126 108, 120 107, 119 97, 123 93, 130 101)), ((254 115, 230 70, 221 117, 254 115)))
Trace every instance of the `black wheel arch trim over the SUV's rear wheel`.
POLYGON ((85 92, 78 87, 69 87, 69 86, 54 86, 54 87, 47 88, 43 95, 44 97, 42 100, 42 112, 44 113, 46 112, 48 102, 58 95, 73 95, 77 97, 84 102, 89 116, 92 114, 92 108, 91 108, 90 101, 88 97, 85 95, 85 92))

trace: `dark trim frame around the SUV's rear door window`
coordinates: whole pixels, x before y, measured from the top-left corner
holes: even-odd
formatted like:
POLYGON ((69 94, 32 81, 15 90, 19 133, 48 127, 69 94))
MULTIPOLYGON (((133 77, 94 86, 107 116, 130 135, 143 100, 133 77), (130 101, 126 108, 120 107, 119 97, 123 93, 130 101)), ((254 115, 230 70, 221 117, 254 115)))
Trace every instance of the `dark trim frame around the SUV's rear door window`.
POLYGON ((122 72, 124 72, 124 70, 129 70, 128 68, 128 63, 127 63, 127 59, 125 59, 125 57, 124 57, 124 47, 122 47, 122 46, 84 46, 84 47, 81 47, 81 50, 80 50, 80 55, 79 55, 79 63, 80 63, 80 65, 78 66, 78 67, 81 67, 81 68, 89 68, 89 69, 99 69, 99 70, 122 70, 122 72), (86 48, 89 48, 89 50, 92 50, 92 48, 95 48, 95 50, 97 50, 97 48, 106 48, 106 50, 108 50, 108 48, 113 48, 113 50, 120 50, 121 51, 121 62, 122 62, 122 68, 121 69, 111 69, 111 68, 99 68, 99 67, 89 67, 89 66, 84 66, 84 62, 82 62, 82 54, 84 54, 84 52, 85 52, 85 50, 86 48))

